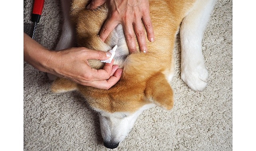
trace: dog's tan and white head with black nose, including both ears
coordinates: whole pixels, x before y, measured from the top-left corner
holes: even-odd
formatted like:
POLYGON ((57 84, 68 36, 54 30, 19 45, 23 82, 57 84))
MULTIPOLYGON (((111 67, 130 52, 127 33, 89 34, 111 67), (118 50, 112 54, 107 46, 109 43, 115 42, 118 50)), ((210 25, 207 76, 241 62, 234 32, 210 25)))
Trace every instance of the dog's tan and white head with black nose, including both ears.
POLYGON ((115 148, 127 136, 143 110, 160 106, 173 107, 173 91, 161 73, 146 81, 125 80, 124 77, 109 90, 78 85, 58 78, 52 84, 53 92, 79 91, 87 103, 99 114, 101 134, 107 148, 115 148))

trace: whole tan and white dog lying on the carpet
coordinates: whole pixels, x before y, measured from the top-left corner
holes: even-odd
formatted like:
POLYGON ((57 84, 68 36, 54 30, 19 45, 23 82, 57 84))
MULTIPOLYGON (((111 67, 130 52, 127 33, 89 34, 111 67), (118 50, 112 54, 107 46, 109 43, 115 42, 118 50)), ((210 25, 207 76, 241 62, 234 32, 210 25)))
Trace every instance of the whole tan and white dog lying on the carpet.
MULTIPOLYGON (((64 23, 56 50, 72 47, 74 43, 101 51, 117 45, 114 64, 123 68, 122 77, 108 90, 57 78, 52 83, 52 92, 78 91, 99 114, 104 146, 114 149, 129 134, 143 110, 154 106, 165 110, 173 107, 170 81, 175 72, 173 48, 179 32, 181 78, 195 91, 206 88, 208 72, 201 43, 216 0, 149 0, 155 41, 147 42, 147 53, 138 51, 133 54, 129 54, 121 24, 115 27, 105 43, 100 40, 98 33, 108 16, 107 5, 87 10, 87 4, 89 0, 62 0, 64 23)), ((95 69, 104 65, 100 60, 89 62, 95 69)))

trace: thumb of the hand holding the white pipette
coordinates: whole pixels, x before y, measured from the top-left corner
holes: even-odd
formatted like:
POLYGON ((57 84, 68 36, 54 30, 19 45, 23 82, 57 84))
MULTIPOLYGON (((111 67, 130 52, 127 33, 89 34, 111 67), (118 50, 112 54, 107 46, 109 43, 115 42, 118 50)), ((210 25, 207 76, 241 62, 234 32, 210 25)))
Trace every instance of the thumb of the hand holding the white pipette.
POLYGON ((97 60, 107 60, 111 57, 110 52, 98 51, 98 50, 90 50, 87 52, 87 59, 97 59, 97 60))

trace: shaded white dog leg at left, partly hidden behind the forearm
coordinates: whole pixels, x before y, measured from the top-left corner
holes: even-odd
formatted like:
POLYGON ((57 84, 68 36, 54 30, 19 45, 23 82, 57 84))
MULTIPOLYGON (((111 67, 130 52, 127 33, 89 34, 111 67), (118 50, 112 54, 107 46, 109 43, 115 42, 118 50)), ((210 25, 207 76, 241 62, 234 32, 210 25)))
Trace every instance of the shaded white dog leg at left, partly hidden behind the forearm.
MULTIPOLYGON (((75 46, 75 27, 73 27, 69 19, 69 11, 71 7, 71 0, 62 0, 62 33, 56 45, 55 50, 62 50, 75 46)), ((47 73, 48 78, 53 81, 57 78, 56 75, 47 73)))

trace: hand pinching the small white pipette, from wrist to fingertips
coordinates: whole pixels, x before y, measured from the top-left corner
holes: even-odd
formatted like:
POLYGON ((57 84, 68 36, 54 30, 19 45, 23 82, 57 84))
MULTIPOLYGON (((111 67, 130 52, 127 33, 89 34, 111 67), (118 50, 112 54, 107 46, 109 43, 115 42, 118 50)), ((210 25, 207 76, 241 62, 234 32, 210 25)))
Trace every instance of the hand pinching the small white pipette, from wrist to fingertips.
POLYGON ((109 52, 90 50, 84 47, 67 48, 61 51, 52 51, 54 54, 47 62, 52 68, 52 73, 58 77, 65 77, 81 85, 96 87, 99 89, 109 89, 119 79, 123 72, 118 65, 106 63, 103 69, 93 69, 89 65, 88 59, 106 60, 109 52))

